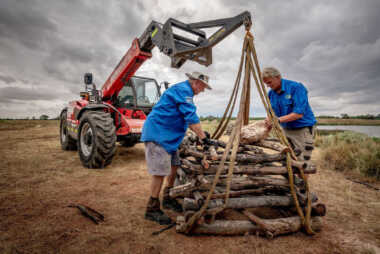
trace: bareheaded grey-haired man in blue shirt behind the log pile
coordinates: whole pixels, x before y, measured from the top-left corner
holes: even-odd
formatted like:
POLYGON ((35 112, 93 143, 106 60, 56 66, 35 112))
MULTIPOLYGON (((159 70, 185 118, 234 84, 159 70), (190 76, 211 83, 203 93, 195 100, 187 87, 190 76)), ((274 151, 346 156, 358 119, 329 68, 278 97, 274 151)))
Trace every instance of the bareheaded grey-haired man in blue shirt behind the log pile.
MULTIPOLYGON (((301 83, 281 78, 281 73, 273 67, 264 68, 262 78, 271 88, 268 97, 288 140, 293 149, 301 152, 298 159, 310 160, 317 121, 309 105, 306 88, 301 83)), ((271 127, 268 120, 266 123, 271 127)))

